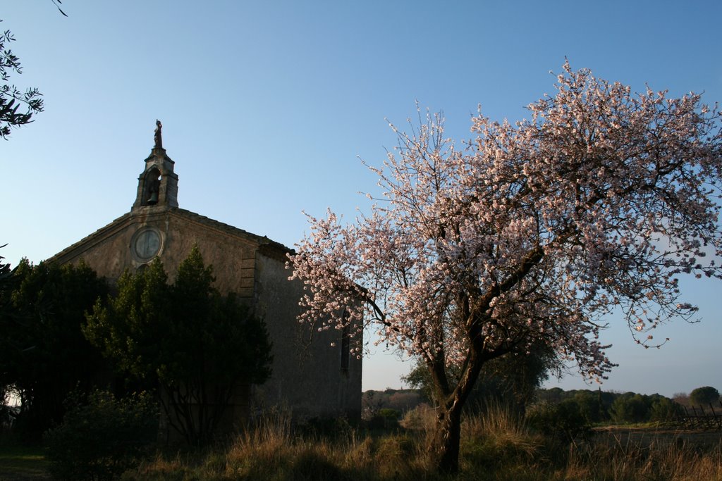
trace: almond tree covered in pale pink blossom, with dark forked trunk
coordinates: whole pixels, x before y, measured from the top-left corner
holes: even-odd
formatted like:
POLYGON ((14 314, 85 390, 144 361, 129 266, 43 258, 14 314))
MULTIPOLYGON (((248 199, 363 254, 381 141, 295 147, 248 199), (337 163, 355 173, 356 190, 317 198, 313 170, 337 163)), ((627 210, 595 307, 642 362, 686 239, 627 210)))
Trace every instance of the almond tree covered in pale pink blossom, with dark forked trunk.
POLYGON ((722 277, 717 108, 563 70, 531 120, 479 113, 461 149, 441 115, 412 134, 392 125, 399 146, 372 168, 386 198, 349 225, 309 217, 290 256, 301 322, 359 326, 359 353, 375 323, 380 342, 425 363, 443 471, 458 469, 461 408, 484 363, 541 342, 604 379, 606 314, 621 309, 635 340, 658 346, 650 330, 695 310, 679 274, 722 277))

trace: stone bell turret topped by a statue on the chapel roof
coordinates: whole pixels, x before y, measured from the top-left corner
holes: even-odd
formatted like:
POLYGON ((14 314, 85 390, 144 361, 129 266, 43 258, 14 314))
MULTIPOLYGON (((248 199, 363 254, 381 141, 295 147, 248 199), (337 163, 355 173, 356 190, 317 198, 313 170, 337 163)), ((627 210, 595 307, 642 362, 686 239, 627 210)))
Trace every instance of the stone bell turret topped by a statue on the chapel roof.
POLYGON ((155 121, 155 146, 145 159, 145 169, 138 177, 138 193, 132 211, 144 207, 178 207, 178 175, 175 162, 165 154, 160 120, 155 121))

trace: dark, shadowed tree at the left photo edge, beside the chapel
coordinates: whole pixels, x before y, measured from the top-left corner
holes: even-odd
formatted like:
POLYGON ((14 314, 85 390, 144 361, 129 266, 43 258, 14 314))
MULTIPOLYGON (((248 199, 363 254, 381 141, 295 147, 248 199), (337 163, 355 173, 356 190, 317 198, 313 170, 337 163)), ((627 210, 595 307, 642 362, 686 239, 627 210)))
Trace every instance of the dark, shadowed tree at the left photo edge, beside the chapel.
POLYGON ((16 431, 40 435, 64 415, 74 389, 100 379, 103 359, 81 332, 84 312, 108 293, 87 265, 22 260, 0 288, 0 387, 22 403, 16 431))

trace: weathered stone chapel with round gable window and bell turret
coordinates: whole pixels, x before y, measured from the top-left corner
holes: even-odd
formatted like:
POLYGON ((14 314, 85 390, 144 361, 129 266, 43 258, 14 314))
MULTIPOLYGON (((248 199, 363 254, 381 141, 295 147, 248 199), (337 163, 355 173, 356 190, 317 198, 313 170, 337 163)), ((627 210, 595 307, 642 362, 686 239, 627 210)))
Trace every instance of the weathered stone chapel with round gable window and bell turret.
POLYGON ((271 379, 252 387, 250 399, 236 399, 235 418, 249 406, 282 406, 300 418, 359 417, 362 363, 344 346, 342 332, 316 333, 310 343, 299 342, 296 316, 303 286, 288 280, 290 250, 179 208, 174 163, 158 142, 145 164, 131 211, 51 260, 83 259, 98 275, 115 281, 124 270, 140 269, 157 256, 173 281, 179 263, 198 245, 206 265, 213 265, 215 286, 222 293, 235 292, 251 306, 265 320, 273 342, 271 379))

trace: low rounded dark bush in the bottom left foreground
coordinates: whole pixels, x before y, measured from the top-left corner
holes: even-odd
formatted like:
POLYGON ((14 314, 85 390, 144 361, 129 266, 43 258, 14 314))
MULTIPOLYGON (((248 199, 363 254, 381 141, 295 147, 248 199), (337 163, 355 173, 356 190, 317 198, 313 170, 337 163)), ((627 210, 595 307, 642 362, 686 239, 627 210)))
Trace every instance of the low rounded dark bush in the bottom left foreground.
POLYGON ((155 442, 158 410, 148 394, 119 401, 96 391, 87 404, 79 401, 71 394, 63 422, 44 436, 56 479, 110 480, 155 442))

